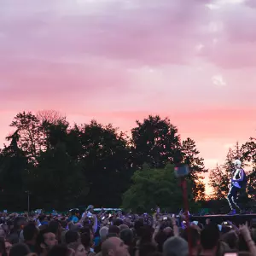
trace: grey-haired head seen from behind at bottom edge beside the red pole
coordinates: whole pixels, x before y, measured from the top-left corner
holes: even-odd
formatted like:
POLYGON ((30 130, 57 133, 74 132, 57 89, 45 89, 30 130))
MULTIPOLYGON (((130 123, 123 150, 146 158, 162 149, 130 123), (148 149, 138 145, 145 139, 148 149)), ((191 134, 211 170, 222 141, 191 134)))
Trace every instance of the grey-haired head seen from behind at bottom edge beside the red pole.
POLYGON ((168 238, 163 246, 164 256, 188 256, 188 242, 179 236, 168 238))

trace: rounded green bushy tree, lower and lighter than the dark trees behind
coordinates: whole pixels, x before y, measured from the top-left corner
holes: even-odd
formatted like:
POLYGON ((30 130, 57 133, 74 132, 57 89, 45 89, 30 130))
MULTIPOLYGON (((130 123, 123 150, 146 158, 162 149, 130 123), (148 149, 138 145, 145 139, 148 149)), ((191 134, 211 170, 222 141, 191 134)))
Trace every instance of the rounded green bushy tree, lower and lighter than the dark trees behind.
MULTIPOLYGON (((160 206, 166 211, 177 212, 183 208, 182 189, 174 175, 174 165, 167 164, 159 169, 143 165, 143 170, 134 172, 132 182, 130 189, 124 195, 123 207, 125 209, 150 212, 155 210, 156 206, 160 206)), ((188 196, 190 207, 195 207, 191 185, 188 189, 188 196)))

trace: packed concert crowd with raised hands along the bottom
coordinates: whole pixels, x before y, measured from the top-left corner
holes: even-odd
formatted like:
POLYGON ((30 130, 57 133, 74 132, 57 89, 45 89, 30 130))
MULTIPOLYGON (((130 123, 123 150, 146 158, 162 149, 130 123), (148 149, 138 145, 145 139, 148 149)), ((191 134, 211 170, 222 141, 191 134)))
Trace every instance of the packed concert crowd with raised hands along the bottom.
POLYGON ((0 256, 256 256, 256 226, 154 214, 0 213, 0 256), (254 229, 255 228, 255 229, 254 229))

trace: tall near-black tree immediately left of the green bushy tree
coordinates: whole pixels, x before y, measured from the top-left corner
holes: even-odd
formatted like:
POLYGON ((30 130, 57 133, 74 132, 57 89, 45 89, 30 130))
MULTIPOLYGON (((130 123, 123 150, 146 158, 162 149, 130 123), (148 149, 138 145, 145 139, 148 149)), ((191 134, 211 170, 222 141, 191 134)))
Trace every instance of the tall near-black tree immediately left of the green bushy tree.
MULTIPOLYGON (((73 135, 78 131, 71 132, 73 135)), ((90 184, 86 201, 99 207, 119 207, 132 175, 125 135, 112 125, 92 120, 81 127, 79 139, 82 145, 79 160, 90 184)))

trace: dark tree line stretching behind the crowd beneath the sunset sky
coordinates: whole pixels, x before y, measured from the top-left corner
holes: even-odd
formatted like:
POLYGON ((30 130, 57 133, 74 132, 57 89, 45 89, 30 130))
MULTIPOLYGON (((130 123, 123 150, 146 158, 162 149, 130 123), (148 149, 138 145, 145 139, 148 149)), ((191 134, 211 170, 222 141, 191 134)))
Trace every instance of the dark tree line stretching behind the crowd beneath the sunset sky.
MULTIPOLYGON (((17 113, 10 127, 0 151, 0 201, 6 209, 26 209, 28 194, 33 208, 181 207, 181 189, 173 174, 178 163, 190 166, 190 201, 205 199, 204 159, 195 141, 182 140, 170 119, 149 115, 136 121, 129 136, 96 120, 72 125, 55 111, 17 113)), ((239 148, 241 155, 237 152, 230 149, 229 160, 239 156, 254 165, 255 140, 239 148)), ((210 172, 218 198, 230 178, 229 164, 210 172)), ((252 186, 253 177, 254 166, 252 186)))

